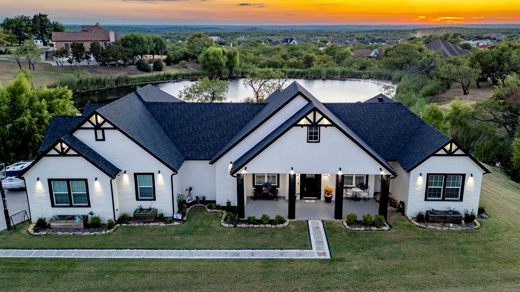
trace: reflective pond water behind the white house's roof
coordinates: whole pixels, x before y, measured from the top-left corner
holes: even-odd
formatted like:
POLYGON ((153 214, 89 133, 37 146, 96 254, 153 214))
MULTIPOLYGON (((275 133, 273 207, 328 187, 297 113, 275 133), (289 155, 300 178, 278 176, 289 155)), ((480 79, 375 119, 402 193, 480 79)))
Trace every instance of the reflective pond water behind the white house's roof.
MULTIPOLYGON (((229 81, 229 91, 226 95, 226 102, 240 102, 246 97, 252 97, 253 91, 245 88, 242 84, 243 79, 231 79, 229 81)), ((379 80, 362 79, 289 79, 286 85, 297 81, 313 94, 321 102, 356 102, 365 101, 380 93, 391 98, 395 95, 396 85, 391 82, 379 80)), ((171 94, 178 96, 185 86, 189 86, 193 81, 155 83, 157 86, 171 94)), ((141 85, 144 86, 144 85, 141 85)), ((76 107, 83 108, 87 102, 107 103, 123 97, 140 86, 124 86, 100 91, 88 91, 74 95, 76 107)))

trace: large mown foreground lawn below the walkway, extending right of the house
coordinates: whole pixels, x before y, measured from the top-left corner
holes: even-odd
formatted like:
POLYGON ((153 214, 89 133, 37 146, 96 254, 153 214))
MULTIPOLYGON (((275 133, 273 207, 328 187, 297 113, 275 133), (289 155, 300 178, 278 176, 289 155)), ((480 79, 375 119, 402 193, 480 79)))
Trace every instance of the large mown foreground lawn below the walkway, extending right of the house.
MULTIPOLYGON (((0 290, 518 291, 520 184, 490 169, 481 204, 491 219, 478 231, 423 230, 404 217, 385 233, 350 232, 340 222, 326 222, 330 260, 1 259, 0 290)), ((189 232, 194 238, 183 240, 204 241, 198 228, 189 232)), ((237 236, 215 241, 232 246, 242 234, 251 238, 249 230, 233 232, 237 236)), ((6 238, 0 237, 2 245, 6 238)))

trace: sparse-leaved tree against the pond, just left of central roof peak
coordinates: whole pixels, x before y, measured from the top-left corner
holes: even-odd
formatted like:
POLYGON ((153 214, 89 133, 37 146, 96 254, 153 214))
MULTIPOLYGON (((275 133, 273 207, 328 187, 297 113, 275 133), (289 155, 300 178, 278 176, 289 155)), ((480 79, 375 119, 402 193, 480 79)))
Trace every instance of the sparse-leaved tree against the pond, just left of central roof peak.
POLYGON ((253 90, 255 102, 262 102, 272 92, 283 88, 286 82, 287 76, 285 73, 265 68, 252 70, 244 79, 243 85, 245 88, 249 87, 253 90))

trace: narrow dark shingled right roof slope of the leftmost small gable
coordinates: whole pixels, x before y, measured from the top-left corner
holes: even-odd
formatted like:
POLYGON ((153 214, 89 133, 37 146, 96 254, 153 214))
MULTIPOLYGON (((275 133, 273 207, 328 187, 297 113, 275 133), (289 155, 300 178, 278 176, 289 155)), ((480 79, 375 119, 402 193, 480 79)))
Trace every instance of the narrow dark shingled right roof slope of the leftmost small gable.
POLYGON ((80 139, 67 135, 62 137, 61 140, 69 145, 72 150, 83 155, 88 162, 105 172, 109 177, 113 178, 121 171, 121 168, 115 166, 94 149, 88 147, 88 145, 83 143, 80 139))

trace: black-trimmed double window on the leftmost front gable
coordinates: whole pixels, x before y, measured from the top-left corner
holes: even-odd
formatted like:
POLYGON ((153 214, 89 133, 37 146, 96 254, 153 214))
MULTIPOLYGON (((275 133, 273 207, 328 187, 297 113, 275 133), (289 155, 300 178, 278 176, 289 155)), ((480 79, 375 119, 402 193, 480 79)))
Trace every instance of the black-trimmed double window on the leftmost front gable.
POLYGON ((90 207, 86 179, 49 179, 50 204, 53 207, 90 207))

